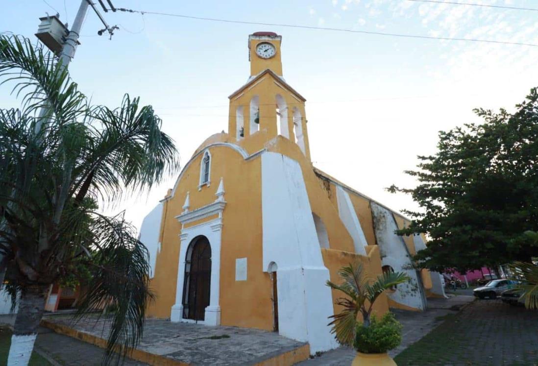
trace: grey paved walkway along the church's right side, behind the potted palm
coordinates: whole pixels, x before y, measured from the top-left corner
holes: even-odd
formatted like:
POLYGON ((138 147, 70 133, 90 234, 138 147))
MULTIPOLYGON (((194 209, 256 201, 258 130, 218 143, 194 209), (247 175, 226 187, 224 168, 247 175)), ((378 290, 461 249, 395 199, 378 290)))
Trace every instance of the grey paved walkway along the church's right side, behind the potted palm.
MULTIPOLYGON (((428 310, 424 312, 410 312, 398 309, 391 309, 398 321, 402 323, 402 343, 396 349, 389 352, 391 357, 395 357, 410 344, 420 340, 428 334, 431 329, 441 323, 441 318, 447 314, 454 314, 455 310, 473 301, 472 296, 452 296, 448 299, 428 299, 428 310), (450 308, 454 309, 451 310, 450 308)), ((328 351, 321 356, 300 362, 304 366, 336 366, 349 365, 355 358, 355 350, 350 347, 340 347, 328 351)))

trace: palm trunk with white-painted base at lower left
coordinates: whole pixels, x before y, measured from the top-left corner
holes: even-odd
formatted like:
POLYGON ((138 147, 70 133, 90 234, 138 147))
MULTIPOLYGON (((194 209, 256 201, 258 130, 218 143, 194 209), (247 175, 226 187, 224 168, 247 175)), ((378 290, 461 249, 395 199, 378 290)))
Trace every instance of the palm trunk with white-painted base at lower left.
POLYGON ((20 294, 19 311, 11 336, 8 366, 26 366, 32 355, 39 322, 45 310, 47 286, 23 288, 20 294))

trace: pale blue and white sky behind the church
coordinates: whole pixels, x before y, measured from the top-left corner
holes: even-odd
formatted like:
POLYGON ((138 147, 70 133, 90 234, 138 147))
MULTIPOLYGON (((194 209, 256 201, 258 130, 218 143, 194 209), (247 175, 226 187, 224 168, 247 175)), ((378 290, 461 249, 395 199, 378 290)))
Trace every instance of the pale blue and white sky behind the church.
MULTIPOLYGON (((535 0, 465 2, 538 8, 535 0)), ((113 3, 246 22, 538 44, 538 11, 530 10, 410 0, 113 3)), ((39 17, 58 12, 70 26, 79 4, 3 0, 0 31, 36 39, 39 17)), ((72 78, 94 104, 115 108, 129 93, 153 105, 162 130, 175 140, 182 166, 203 140, 228 129, 228 95, 250 73, 249 34, 280 34, 284 78, 307 99, 314 165, 394 210, 417 208, 409 196, 385 188, 416 184, 404 171, 416 166, 417 155, 435 153, 438 131, 480 122, 473 108, 513 110, 538 85, 538 47, 533 46, 101 13, 120 29, 111 40, 97 36, 103 26, 89 10, 69 65, 72 78)), ((0 108, 18 107, 10 91, 0 86, 0 108)), ((126 219, 139 227, 176 178, 107 212, 125 209, 126 219)))

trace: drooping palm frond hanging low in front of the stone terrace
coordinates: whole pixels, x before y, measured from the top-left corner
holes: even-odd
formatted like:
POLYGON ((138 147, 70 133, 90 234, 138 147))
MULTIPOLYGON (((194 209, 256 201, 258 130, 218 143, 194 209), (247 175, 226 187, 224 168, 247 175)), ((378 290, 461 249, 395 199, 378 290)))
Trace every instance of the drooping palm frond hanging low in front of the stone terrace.
POLYGON ((77 309, 80 319, 103 305, 114 304, 117 310, 110 318, 105 362, 121 361, 129 348, 135 348, 144 328, 147 302, 153 299, 148 287, 148 251, 134 236, 134 230, 117 216, 95 217, 90 230, 93 242, 99 243, 95 257, 88 262, 93 268, 77 309), (115 353, 114 351, 118 351, 115 353))

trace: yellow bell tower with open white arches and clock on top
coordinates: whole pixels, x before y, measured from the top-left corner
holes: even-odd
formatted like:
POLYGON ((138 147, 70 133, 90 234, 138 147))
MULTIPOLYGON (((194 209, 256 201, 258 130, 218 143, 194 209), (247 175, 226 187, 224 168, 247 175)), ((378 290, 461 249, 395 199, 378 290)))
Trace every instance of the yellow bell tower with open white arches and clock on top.
POLYGON ((230 96, 228 133, 237 143, 263 149, 281 136, 299 146, 310 160, 306 99, 282 78, 282 37, 273 32, 249 35, 250 77, 230 96))

